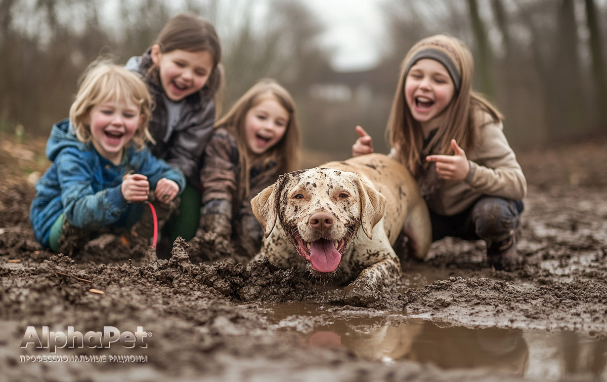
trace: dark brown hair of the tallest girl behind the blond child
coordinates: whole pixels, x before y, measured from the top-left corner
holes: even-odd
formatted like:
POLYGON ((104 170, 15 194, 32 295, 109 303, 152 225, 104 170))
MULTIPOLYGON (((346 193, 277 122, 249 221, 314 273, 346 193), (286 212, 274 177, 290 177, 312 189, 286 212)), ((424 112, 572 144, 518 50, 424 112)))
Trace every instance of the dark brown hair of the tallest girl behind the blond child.
MULTIPOLYGON (((222 59, 222 46, 215 27, 210 21, 196 16, 192 13, 179 13, 173 16, 162 28, 155 41, 160 47, 160 52, 166 54, 176 49, 188 52, 206 51, 213 58, 213 69, 206 80, 205 86, 200 89, 200 96, 204 100, 215 97, 215 106, 220 113, 220 100, 223 86, 223 68, 220 65, 222 59)), ((158 76, 158 68, 153 65, 150 71, 158 76)), ((159 79, 159 78, 158 78, 159 79)))

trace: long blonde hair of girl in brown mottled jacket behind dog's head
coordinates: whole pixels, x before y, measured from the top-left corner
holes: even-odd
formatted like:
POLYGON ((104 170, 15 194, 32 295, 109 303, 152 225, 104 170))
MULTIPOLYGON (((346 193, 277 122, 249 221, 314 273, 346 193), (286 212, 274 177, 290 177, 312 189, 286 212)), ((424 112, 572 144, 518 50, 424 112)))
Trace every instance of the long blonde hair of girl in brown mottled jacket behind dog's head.
POLYGON ((245 195, 249 192, 249 172, 254 165, 265 165, 270 161, 274 161, 276 162, 275 171, 277 173, 291 172, 299 166, 301 133, 295 102, 287 89, 280 86, 274 80, 265 79, 256 83, 234 103, 234 106, 222 119, 215 122, 215 127, 225 127, 236 136, 239 150, 240 184, 245 186, 245 195), (263 101, 264 96, 267 95, 274 97, 287 110, 289 114, 287 129, 285 130, 285 135, 276 145, 255 158, 249 158, 252 153, 246 144, 246 113, 249 109, 259 105, 263 101))

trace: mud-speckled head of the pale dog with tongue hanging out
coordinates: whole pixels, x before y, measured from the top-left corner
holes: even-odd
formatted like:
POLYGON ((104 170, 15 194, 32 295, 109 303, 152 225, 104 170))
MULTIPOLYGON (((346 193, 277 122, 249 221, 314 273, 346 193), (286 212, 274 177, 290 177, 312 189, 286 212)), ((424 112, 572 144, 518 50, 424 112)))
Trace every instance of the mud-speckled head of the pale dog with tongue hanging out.
POLYGON ((333 273, 348 243, 384 216, 385 197, 356 173, 311 168, 281 175, 251 200, 253 214, 270 235, 280 218, 288 239, 316 276, 333 273))

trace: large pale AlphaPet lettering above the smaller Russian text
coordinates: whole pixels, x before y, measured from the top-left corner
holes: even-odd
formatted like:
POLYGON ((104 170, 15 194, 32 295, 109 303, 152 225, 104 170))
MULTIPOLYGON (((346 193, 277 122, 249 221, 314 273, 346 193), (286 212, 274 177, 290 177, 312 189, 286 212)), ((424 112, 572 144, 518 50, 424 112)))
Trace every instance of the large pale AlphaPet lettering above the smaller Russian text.
POLYGON ((142 326, 137 327, 137 332, 120 332, 118 328, 113 326, 104 326, 103 332, 86 332, 84 335, 81 332, 74 332, 74 327, 67 327, 67 335, 64 332, 49 332, 49 327, 42 327, 42 335, 38 335, 35 327, 29 326, 25 330, 21 347, 27 349, 29 344, 32 344, 37 349, 49 349, 51 353, 55 353, 57 348, 63 349, 67 346, 68 349, 76 347, 110 347, 114 342, 120 343, 127 349, 133 349, 135 346, 143 349, 148 348, 148 337, 152 336, 152 332, 144 332, 142 326))

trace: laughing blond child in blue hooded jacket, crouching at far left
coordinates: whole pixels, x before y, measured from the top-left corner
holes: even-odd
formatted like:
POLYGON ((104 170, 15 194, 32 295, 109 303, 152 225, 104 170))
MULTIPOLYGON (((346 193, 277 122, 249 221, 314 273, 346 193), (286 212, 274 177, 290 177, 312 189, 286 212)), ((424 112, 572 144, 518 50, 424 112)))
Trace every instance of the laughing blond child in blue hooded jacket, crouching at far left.
MULTIPOLYGON (((46 153, 53 164, 36 183, 30 220, 45 248, 63 248, 70 234, 84 244, 92 232, 129 228, 143 214, 150 190, 169 203, 185 187, 179 170, 155 158, 148 120, 152 99, 134 73, 93 63, 70 108, 53 126, 46 153)), ((146 207, 147 208, 147 207, 146 207)))

